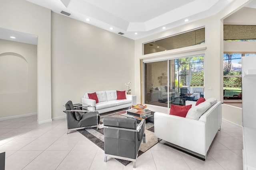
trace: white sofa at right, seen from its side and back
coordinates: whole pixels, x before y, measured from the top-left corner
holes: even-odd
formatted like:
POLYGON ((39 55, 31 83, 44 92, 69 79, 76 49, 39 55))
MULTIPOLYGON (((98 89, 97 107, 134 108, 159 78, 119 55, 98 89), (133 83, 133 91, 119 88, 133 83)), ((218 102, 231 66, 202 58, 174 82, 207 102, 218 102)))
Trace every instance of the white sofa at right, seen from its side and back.
MULTIPOLYGON (((212 99, 209 100, 212 101, 212 99)), ((200 104, 195 106, 196 102, 186 101, 186 105, 189 104, 192 104, 193 111, 200 111, 200 108, 198 109, 200 104)), ((222 106, 221 102, 217 102, 216 99, 215 102, 211 102, 210 108, 198 120, 160 112, 154 113, 156 137, 167 141, 170 145, 181 147, 180 149, 199 156, 203 160, 206 160, 207 151, 216 133, 220 130, 221 123, 222 106)))

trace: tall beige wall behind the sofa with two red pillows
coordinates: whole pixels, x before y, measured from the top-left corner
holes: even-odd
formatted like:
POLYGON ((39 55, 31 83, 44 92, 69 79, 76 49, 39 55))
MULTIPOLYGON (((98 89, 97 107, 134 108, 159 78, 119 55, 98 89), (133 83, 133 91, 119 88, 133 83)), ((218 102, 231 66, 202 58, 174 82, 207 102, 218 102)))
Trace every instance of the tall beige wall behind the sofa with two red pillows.
POLYGON ((134 40, 52 12, 51 43, 53 118, 85 92, 128 90, 130 81, 134 94, 134 40))

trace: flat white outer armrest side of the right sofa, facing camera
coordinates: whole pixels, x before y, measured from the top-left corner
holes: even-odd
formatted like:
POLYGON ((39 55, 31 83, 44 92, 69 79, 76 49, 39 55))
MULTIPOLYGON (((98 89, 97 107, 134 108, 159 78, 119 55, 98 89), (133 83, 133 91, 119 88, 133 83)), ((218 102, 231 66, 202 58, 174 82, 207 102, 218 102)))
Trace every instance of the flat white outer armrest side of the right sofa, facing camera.
POLYGON ((206 155, 206 123, 185 117, 154 113, 155 136, 193 152, 206 155))

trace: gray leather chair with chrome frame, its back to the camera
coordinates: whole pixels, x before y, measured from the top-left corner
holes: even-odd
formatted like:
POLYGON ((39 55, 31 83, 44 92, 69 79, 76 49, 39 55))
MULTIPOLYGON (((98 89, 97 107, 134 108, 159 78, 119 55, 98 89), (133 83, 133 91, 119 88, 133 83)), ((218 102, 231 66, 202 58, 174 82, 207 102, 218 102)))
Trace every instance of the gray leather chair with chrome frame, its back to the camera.
POLYGON ((145 143, 145 120, 139 124, 136 119, 124 117, 104 117, 104 162, 107 156, 133 162, 136 167, 136 158, 140 144, 145 143))

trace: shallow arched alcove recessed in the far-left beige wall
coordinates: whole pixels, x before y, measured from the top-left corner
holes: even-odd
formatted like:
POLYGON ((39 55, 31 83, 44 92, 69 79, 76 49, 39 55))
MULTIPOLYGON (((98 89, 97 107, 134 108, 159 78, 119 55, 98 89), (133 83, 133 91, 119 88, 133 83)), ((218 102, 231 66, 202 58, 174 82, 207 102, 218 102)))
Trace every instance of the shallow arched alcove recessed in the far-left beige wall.
POLYGON ((0 54, 0 94, 28 92, 28 61, 18 53, 0 54))

